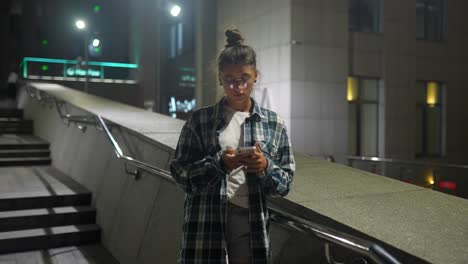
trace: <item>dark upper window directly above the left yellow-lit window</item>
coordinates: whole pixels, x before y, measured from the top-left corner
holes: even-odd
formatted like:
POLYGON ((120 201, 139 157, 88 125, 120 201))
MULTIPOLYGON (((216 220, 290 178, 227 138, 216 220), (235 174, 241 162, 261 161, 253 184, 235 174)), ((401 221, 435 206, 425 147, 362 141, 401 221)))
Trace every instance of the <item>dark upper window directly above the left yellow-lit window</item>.
POLYGON ((349 30, 380 32, 380 18, 381 0, 350 0, 349 30))

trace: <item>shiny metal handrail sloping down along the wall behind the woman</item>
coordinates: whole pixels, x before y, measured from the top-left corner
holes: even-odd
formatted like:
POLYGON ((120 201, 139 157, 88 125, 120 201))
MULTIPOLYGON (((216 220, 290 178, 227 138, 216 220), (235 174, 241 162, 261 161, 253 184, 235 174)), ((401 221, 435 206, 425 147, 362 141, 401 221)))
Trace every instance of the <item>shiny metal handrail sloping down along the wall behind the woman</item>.
MULTIPOLYGON (((57 106, 57 111, 59 111, 61 118, 65 118, 65 119, 71 118, 71 116, 68 114, 62 115, 61 111, 59 110, 58 104, 56 104, 56 106, 57 106)), ((80 123, 82 121, 84 123, 89 123, 89 120, 84 119, 84 118, 83 119, 77 118, 73 121, 77 123, 80 123)), ((127 164, 131 164, 135 168, 141 169, 150 174, 161 176, 163 179, 171 183, 175 183, 169 171, 157 168, 145 162, 126 156, 123 153, 117 141, 112 136, 112 133, 109 130, 108 126, 106 125, 106 122, 104 121, 104 119, 100 115, 96 115, 96 121, 100 125, 100 128, 102 129, 102 131, 105 132, 117 158, 125 160, 125 164, 126 164, 125 169, 127 173, 134 175, 134 178, 140 177, 140 172, 138 170, 136 170, 135 172, 130 172, 128 170, 127 164)), ((97 128, 99 129, 99 127, 97 128)), ((389 254, 385 249, 380 247, 378 244, 368 242, 366 240, 354 237, 352 235, 338 232, 328 227, 320 226, 302 217, 293 216, 287 212, 282 212, 275 208, 269 207, 268 210, 270 213, 271 220, 273 222, 276 222, 277 224, 280 224, 288 228, 298 230, 307 234, 314 234, 318 238, 321 238, 325 241, 343 246, 361 255, 365 255, 371 258, 373 261, 375 261, 378 264, 400 264, 398 260, 396 260, 391 254, 389 254)), ((330 261, 328 247, 326 247, 325 253, 327 255, 327 259, 330 261)))

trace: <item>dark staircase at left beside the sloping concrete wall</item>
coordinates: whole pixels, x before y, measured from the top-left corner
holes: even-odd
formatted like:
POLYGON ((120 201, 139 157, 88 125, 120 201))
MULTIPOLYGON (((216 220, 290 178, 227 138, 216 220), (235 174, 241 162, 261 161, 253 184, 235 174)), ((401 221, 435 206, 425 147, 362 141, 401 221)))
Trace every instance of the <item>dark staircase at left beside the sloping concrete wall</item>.
POLYGON ((0 254, 99 243, 92 194, 50 166, 32 120, 0 109, 0 254))

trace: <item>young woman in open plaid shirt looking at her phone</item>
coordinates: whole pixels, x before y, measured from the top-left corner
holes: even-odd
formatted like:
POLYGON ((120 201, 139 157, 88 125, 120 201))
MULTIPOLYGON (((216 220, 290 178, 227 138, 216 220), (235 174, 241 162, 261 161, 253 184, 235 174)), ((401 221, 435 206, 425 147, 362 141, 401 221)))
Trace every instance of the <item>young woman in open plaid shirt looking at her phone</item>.
POLYGON ((285 196, 295 164, 284 122, 252 98, 255 51, 226 30, 218 56, 225 96, 195 111, 171 173, 185 191, 179 263, 269 263, 266 196, 285 196))

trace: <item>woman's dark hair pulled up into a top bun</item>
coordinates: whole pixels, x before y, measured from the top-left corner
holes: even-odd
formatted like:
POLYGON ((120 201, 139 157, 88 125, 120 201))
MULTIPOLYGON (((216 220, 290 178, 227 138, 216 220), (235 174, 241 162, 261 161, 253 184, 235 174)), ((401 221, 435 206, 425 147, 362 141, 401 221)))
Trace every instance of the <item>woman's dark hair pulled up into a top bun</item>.
POLYGON ((226 44, 218 55, 218 72, 223 71, 227 65, 251 65, 257 66, 257 55, 255 51, 244 45, 244 38, 238 29, 227 29, 224 32, 226 44))

